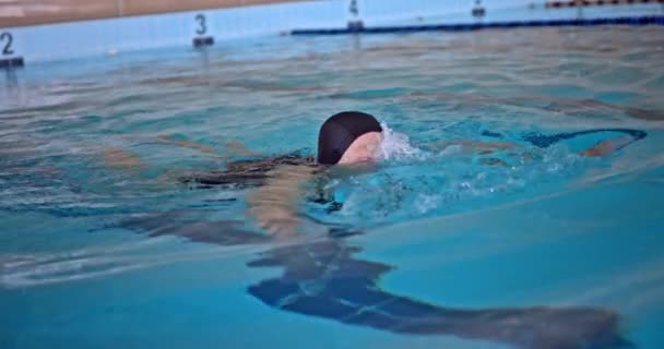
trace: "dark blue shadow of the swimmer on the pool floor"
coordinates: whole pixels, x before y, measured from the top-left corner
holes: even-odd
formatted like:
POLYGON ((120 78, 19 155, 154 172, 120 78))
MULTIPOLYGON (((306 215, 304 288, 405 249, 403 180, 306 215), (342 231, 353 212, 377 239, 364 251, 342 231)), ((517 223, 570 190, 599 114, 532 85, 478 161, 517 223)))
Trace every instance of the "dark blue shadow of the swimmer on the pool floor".
MULTIPOLYGON (((358 232, 331 227, 329 237, 270 246, 270 237, 247 231, 241 221, 180 221, 155 215, 126 221, 126 228, 151 236, 173 234, 220 245, 265 244, 247 265, 281 267, 278 277, 247 288, 262 303, 292 313, 404 335, 449 335, 490 340, 518 348, 628 348, 620 316, 600 308, 454 309, 381 289, 380 278, 394 267, 357 258, 361 248, 348 242, 358 232), (169 221, 164 226, 164 221, 169 221), (158 227, 158 229, 155 229, 158 227)), ((175 219, 178 220, 178 219, 175 219)))

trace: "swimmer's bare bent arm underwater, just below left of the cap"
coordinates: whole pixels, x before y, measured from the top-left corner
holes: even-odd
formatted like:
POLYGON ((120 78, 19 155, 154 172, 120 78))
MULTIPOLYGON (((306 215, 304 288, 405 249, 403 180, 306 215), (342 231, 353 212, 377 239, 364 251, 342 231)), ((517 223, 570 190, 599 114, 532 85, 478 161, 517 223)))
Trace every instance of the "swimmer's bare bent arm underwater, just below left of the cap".
POLYGON ((264 185, 249 194, 249 215, 261 228, 277 237, 297 232, 303 224, 308 222, 299 217, 298 204, 303 197, 303 184, 312 177, 310 167, 278 167, 264 185))

